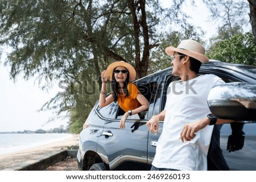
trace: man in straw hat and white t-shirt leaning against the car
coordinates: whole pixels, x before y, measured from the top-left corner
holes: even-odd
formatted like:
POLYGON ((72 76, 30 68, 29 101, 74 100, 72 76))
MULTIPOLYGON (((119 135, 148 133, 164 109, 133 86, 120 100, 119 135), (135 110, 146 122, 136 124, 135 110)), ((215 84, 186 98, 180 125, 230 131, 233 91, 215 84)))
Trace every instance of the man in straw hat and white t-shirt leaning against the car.
POLYGON ((172 58, 172 74, 181 81, 170 83, 164 110, 147 122, 156 133, 159 121, 164 121, 151 170, 207 170, 213 125, 231 122, 210 114, 207 96, 212 87, 225 82, 212 74, 197 75, 209 59, 194 40, 169 46, 166 53, 172 58))

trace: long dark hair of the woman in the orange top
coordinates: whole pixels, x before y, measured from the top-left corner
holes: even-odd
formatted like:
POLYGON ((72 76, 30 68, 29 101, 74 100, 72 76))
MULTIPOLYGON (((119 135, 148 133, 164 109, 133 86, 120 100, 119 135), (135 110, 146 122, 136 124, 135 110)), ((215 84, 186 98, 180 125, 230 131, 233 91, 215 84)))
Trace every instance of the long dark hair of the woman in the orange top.
MULTIPOLYGON (((125 82, 123 82, 123 91, 125 92, 125 97, 129 96, 129 92, 128 92, 128 89, 127 89, 127 84, 128 83, 129 83, 129 72, 127 73, 127 78, 126 78, 125 82)), ((112 89, 112 92, 113 92, 114 101, 117 101, 117 95, 119 94, 119 88, 118 87, 119 87, 119 83, 117 81, 115 81, 115 74, 113 72, 112 81, 111 81, 111 89, 112 89)))

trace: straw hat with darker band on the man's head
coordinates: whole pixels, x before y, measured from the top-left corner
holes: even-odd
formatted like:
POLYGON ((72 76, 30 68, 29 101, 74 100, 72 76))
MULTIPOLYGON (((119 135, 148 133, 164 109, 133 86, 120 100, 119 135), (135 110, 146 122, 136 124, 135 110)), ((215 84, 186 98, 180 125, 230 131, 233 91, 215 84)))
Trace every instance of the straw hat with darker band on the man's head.
POLYGON ((203 45, 197 43, 195 40, 183 40, 181 43, 175 48, 174 46, 168 46, 166 48, 166 53, 169 56, 173 56, 174 52, 182 53, 187 56, 193 57, 196 60, 199 60, 202 64, 205 62, 209 62, 209 59, 204 56, 205 49, 203 45))

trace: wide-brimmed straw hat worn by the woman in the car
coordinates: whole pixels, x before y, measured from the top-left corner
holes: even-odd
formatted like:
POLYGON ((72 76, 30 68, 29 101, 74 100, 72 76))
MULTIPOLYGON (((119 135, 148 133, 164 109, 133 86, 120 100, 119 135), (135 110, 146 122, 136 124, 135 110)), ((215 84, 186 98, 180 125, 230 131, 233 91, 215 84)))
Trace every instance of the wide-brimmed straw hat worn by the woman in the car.
POLYGON ((113 75, 113 70, 117 66, 123 66, 129 71, 129 81, 134 81, 136 78, 136 71, 132 65, 125 61, 115 61, 112 64, 110 64, 107 69, 106 69, 106 77, 111 81, 112 80, 112 75, 113 75))

